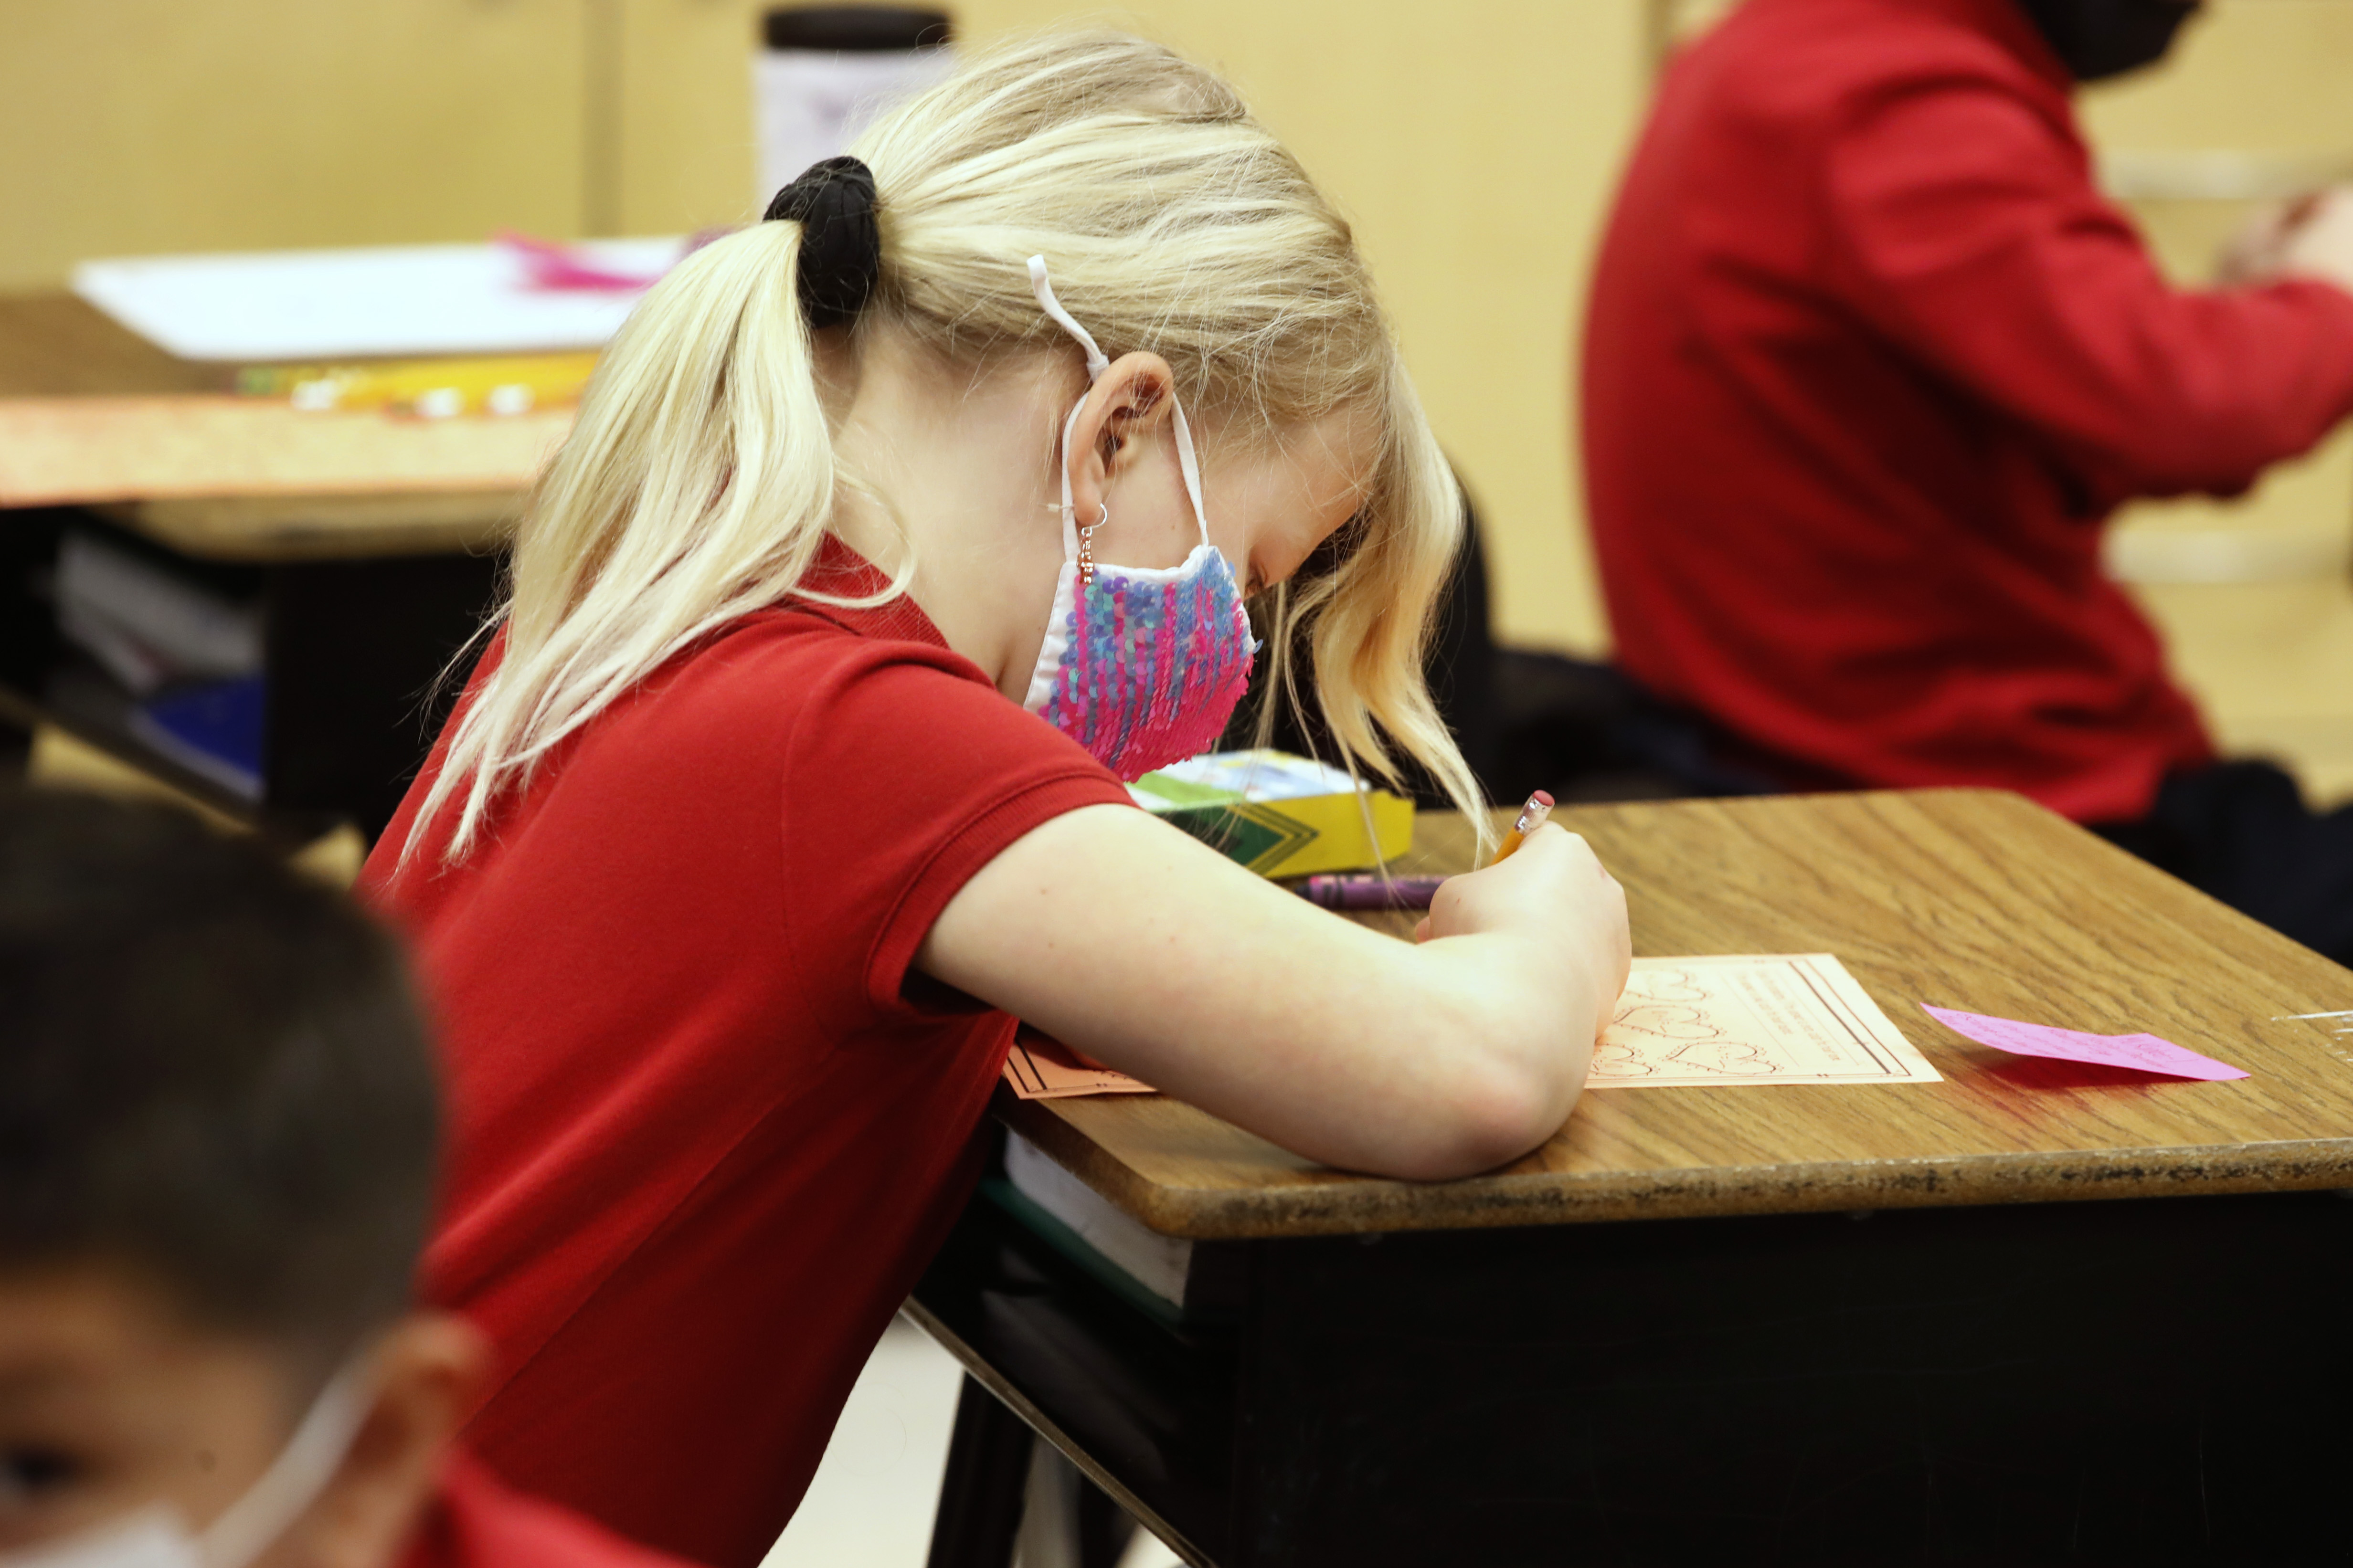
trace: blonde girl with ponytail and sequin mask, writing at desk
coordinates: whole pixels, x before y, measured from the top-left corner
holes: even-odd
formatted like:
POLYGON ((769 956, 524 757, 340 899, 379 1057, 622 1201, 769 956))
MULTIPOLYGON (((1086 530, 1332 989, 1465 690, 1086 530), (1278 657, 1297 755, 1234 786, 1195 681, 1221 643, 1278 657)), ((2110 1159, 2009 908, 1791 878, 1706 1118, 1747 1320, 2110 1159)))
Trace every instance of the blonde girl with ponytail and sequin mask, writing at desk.
POLYGON ((958 1213, 1014 1018, 1447 1178, 1562 1124, 1628 952, 1560 830, 1407 947, 1127 799, 1217 738, 1257 597, 1360 766, 1473 804, 1419 679, 1459 496, 1348 226, 1233 92, 1031 42, 859 160, 614 341, 365 877, 447 1027, 428 1291, 506 1359, 471 1439, 720 1568, 958 1213))

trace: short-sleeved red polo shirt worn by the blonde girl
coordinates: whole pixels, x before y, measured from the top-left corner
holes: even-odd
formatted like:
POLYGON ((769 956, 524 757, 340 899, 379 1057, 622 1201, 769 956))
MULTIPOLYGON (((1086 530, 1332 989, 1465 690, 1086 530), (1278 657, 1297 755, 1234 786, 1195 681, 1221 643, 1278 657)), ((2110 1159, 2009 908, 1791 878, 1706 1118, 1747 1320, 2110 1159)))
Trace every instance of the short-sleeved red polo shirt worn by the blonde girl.
MULTIPOLYGON (((831 590, 880 588, 838 562, 831 590)), ((911 987, 915 950, 1005 846, 1127 790, 908 599, 736 621, 555 748, 461 863, 445 813, 395 865, 438 769, 360 886, 442 1025, 426 1291, 506 1368, 466 1441, 751 1568, 969 1190, 1012 1039, 911 987)))

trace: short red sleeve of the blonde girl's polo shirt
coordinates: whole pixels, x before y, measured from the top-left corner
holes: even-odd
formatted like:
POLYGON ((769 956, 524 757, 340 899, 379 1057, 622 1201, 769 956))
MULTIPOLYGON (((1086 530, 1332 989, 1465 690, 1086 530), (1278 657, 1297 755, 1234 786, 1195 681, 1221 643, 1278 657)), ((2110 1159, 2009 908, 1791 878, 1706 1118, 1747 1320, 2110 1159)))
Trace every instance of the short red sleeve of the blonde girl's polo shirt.
POLYGON ((786 940, 852 1032, 904 1016, 908 969, 948 900, 1040 823, 1132 804, 1075 741, 906 644, 868 644, 784 752, 786 940))

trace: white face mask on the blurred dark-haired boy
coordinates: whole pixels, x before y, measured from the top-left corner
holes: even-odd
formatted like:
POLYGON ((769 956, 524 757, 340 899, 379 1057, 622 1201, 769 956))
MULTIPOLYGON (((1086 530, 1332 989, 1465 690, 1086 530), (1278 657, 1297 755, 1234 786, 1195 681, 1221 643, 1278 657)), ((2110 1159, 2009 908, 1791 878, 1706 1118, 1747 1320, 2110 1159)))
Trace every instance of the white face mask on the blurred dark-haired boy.
POLYGON ((0 1568, 249 1568, 327 1490, 365 1418, 360 1363, 351 1363, 311 1401, 261 1479, 202 1530, 191 1530, 169 1502, 151 1502, 59 1540, 0 1552, 0 1568))

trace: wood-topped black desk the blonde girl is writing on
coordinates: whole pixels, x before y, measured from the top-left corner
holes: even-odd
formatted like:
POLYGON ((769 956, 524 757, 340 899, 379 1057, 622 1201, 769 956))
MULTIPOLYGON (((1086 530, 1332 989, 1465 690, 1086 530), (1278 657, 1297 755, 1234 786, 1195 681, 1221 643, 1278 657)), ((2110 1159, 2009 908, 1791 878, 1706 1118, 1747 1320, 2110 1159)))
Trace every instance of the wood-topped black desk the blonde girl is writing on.
POLYGON ((2353 1051, 2287 1016, 2353 973, 2005 795, 1555 820, 1635 952, 1835 952, 1946 1081, 1593 1091, 1447 1185, 1160 1098, 1007 1103, 1235 1305, 1162 1326, 974 1204, 925 1324, 1228 1568, 2344 1556, 2353 1051), (1922 1001, 2254 1077, 2007 1058, 1922 1001))

